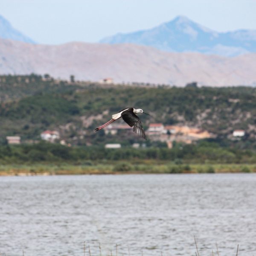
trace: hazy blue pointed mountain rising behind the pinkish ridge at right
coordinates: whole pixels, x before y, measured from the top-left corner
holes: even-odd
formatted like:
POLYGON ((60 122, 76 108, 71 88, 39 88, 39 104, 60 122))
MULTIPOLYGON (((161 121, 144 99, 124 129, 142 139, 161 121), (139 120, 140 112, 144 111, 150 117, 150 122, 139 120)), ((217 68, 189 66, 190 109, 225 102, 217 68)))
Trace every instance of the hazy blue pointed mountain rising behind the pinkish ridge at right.
POLYGON ((200 52, 236 56, 256 52, 256 30, 218 33, 187 17, 178 16, 153 29, 103 38, 100 43, 132 43, 169 52, 200 52))

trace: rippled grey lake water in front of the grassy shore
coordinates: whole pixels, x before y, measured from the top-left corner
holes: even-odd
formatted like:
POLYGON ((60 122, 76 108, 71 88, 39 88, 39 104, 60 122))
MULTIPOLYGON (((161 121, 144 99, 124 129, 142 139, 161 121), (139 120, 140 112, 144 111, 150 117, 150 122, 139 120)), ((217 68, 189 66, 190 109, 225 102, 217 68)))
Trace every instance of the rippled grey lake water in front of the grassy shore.
POLYGON ((194 256, 194 236, 256 255, 256 175, 0 177, 0 255, 194 256))

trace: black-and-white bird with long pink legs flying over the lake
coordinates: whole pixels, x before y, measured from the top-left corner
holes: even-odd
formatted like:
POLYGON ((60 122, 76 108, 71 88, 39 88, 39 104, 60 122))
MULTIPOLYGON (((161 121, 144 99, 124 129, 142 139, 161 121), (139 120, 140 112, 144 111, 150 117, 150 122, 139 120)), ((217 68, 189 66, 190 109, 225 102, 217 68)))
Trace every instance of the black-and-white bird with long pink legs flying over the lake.
POLYGON ((115 122, 117 119, 121 118, 131 127, 133 127, 133 131, 137 134, 139 134, 140 137, 143 137, 146 140, 146 135, 145 132, 143 130, 143 126, 142 123, 140 121, 140 118, 136 115, 138 113, 144 113, 146 115, 147 114, 145 112, 143 112, 142 109, 138 108, 125 108, 121 111, 119 111, 116 114, 112 115, 112 119, 109 120, 108 122, 106 122, 104 125, 97 127, 94 131, 99 131, 101 129, 103 129, 104 127, 106 127, 107 125, 110 125, 112 122, 115 122))

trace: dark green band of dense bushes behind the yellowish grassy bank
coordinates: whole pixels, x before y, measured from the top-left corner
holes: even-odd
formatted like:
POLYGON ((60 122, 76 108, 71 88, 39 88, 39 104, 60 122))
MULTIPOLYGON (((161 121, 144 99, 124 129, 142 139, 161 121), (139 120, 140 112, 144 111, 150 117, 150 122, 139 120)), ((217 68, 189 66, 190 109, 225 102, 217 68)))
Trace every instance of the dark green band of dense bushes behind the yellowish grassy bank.
POLYGON ((106 149, 101 146, 68 147, 41 141, 36 144, 0 145, 1 163, 71 163, 84 161, 140 160, 174 161, 176 163, 256 163, 256 152, 230 148, 202 140, 197 144, 174 143, 173 148, 148 147, 106 149))

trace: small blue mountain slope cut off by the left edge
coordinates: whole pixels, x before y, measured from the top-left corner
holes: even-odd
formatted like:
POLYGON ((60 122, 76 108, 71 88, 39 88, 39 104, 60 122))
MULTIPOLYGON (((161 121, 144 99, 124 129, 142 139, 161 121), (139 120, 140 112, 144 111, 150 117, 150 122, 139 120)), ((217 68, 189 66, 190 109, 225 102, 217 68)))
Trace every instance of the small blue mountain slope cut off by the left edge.
POLYGON ((0 38, 12 39, 12 40, 22 41, 22 42, 32 43, 32 44, 35 43, 31 38, 27 37, 26 35, 23 35, 17 29, 14 29, 12 25, 9 23, 9 21, 6 20, 1 15, 0 15, 0 38))

